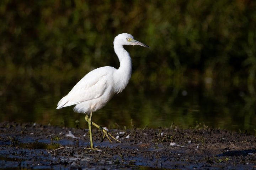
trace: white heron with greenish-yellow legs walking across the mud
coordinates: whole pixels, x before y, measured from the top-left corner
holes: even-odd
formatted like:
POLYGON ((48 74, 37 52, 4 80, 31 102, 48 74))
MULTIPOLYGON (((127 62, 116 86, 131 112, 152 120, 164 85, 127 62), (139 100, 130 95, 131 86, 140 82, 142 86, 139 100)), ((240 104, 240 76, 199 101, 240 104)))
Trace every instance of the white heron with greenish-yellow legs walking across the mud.
MULTIPOLYGON (((127 33, 119 34, 114 38, 114 51, 120 62, 118 69, 110 66, 100 67, 92 70, 85 75, 69 92, 63 97, 57 109, 71 106, 75 104, 74 111, 78 113, 90 113, 90 117, 86 115, 85 120, 88 122, 91 149, 96 149, 92 140, 91 125, 96 126, 104 132, 104 136, 112 137, 117 142, 121 142, 108 133, 107 130, 101 128, 91 121, 92 112, 104 107, 114 94, 122 92, 128 84, 132 74, 132 59, 130 54, 123 48, 124 45, 140 45, 147 48, 149 46, 134 40, 133 36, 127 33)), ((110 140, 110 142, 112 142, 110 140)))

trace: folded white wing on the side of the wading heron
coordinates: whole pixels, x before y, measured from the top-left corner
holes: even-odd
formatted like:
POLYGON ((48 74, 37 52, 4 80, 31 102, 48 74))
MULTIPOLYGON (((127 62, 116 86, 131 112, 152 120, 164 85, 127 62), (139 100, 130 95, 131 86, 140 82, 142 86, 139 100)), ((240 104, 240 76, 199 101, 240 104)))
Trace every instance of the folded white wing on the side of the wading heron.
POLYGON ((86 74, 69 94, 59 101, 57 109, 102 96, 107 89, 108 73, 108 70, 98 68, 86 74))

